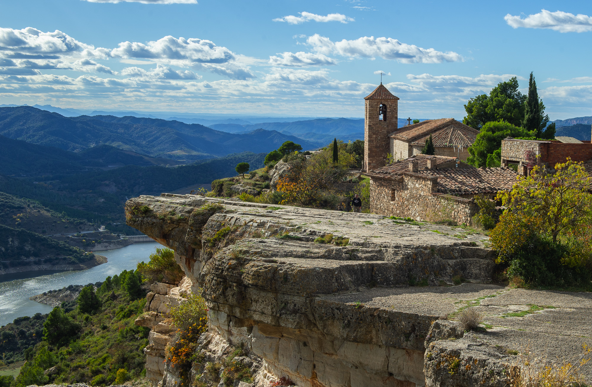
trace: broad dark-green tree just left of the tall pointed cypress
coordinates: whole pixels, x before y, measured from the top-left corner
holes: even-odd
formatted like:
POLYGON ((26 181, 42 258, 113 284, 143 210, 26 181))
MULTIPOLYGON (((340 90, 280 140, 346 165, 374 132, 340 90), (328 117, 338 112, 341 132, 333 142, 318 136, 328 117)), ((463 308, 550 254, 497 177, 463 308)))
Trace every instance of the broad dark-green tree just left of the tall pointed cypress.
POLYGON ((465 125, 481 129, 490 121, 504 120, 520 126, 524 119, 525 96, 518 91, 516 77, 506 82, 500 82, 489 95, 482 94, 469 99, 465 105, 466 117, 462 120, 465 125))

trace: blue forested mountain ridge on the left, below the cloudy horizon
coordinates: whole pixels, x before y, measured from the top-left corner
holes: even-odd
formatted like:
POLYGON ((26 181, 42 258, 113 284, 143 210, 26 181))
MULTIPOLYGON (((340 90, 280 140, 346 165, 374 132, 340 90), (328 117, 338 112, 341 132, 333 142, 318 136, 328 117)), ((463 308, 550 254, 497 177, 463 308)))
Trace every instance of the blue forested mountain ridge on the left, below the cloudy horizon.
POLYGON ((294 141, 305 149, 316 143, 278 131, 254 130, 233 134, 200 124, 185 124, 155 118, 64 117, 33 107, 0 108, 0 134, 44 146, 80 151, 99 144, 134 151, 150 157, 173 160, 200 160, 230 153, 269 152, 284 141, 294 141))

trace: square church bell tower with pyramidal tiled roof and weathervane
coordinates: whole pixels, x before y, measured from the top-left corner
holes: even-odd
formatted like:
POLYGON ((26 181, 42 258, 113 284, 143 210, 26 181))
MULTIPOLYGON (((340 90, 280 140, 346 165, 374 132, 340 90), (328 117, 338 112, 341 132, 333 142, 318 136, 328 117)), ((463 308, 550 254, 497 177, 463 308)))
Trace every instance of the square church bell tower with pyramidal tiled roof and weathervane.
POLYGON ((365 98, 364 165, 362 170, 384 167, 390 152, 389 135, 397 130, 399 98, 380 85, 365 98))

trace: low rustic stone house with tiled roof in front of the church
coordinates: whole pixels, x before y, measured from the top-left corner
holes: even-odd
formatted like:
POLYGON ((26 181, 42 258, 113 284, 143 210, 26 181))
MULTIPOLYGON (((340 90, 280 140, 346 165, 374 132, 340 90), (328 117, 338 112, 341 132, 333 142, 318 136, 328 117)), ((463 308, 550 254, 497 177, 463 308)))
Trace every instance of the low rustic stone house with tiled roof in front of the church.
POLYGON ((471 224, 475 195, 491 198, 511 189, 516 172, 507 167, 476 168, 456 157, 417 154, 366 173, 370 211, 417 221, 452 220, 471 224))

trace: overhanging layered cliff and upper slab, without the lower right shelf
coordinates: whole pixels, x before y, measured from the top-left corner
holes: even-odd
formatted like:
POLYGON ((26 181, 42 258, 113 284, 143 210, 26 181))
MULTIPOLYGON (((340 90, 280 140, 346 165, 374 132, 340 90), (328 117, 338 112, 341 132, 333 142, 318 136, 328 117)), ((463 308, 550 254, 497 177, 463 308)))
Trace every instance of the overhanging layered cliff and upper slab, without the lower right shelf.
POLYGON ((128 201, 127 224, 175 250, 208 303, 210 334, 300 386, 424 385, 424 340, 442 308, 406 308, 397 298, 424 289, 410 282, 487 283, 494 271, 484 237, 443 234, 455 233, 450 227, 430 225, 443 230, 434 233, 378 215, 163 195, 128 201), (337 244, 314 243, 328 234, 337 244))

